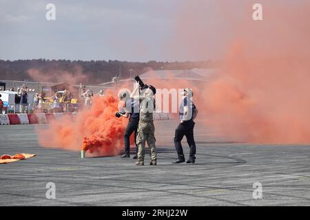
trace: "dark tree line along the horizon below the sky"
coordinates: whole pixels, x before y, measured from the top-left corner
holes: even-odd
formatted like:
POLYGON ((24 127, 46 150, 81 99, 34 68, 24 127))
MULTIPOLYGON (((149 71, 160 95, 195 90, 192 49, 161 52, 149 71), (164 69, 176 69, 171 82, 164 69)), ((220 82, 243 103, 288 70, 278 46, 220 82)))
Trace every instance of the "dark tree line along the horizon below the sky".
MULTIPOLYGON (((85 84, 97 85, 109 82, 112 77, 129 78, 135 74, 143 74, 150 69, 193 69, 219 67, 220 61, 186 61, 186 62, 127 62, 127 61, 70 61, 70 60, 48 60, 32 59, 3 61, 0 60, 0 80, 28 80, 34 78, 28 74, 29 69, 37 69, 41 74, 50 72, 68 72, 74 75, 76 67, 79 67, 85 75, 85 84)), ((61 77, 61 76, 60 76, 61 77)), ((51 80, 53 82, 53 79, 51 80)))

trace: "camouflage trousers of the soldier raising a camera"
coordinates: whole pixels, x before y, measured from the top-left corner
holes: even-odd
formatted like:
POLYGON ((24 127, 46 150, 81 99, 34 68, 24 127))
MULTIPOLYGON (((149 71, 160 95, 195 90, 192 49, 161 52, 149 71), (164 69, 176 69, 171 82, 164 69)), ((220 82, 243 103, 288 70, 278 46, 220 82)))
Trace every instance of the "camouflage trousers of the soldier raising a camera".
POLYGON ((149 146, 149 157, 152 161, 156 161, 157 153, 155 147, 155 127, 152 121, 138 124, 138 134, 136 135, 136 144, 138 145, 138 161, 144 161, 145 156, 145 142, 149 146))

